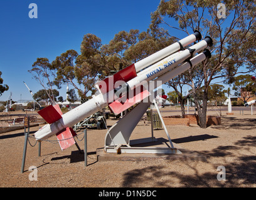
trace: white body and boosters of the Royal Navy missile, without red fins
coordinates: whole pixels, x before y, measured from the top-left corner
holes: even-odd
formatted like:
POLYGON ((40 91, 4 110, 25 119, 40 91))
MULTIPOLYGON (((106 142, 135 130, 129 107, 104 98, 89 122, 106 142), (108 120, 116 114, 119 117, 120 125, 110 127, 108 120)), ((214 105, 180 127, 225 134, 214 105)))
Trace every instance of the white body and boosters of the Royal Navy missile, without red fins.
MULTIPOLYGON (((212 41, 210 37, 206 37, 203 41, 198 42, 197 44, 191 46, 189 49, 186 49, 184 51, 179 51, 165 58, 167 51, 171 51, 171 52, 178 51, 181 45, 187 46, 191 42, 196 41, 196 39, 198 39, 198 34, 193 34, 191 36, 188 36, 188 38, 186 37, 186 39, 179 41, 181 44, 179 44, 179 42, 176 42, 177 44, 174 43, 173 45, 171 45, 172 46, 171 50, 170 49, 169 50, 165 49, 164 51, 161 50, 159 51, 160 53, 158 52, 156 54, 152 54, 151 56, 149 56, 148 57, 149 60, 147 60, 146 58, 146 59, 143 59, 141 62, 139 61, 138 63, 135 63, 133 67, 136 70, 136 74, 135 74, 136 76, 134 78, 129 77, 129 81, 123 81, 124 84, 122 84, 119 88, 113 87, 113 89, 110 89, 109 91, 99 87, 99 94, 93 95, 92 96, 93 98, 90 99, 89 101, 81 104, 77 108, 72 109, 68 113, 61 115, 60 119, 54 121, 51 124, 46 124, 45 126, 40 128, 35 133, 35 138, 37 140, 43 140, 43 139, 49 138, 53 134, 61 133, 61 131, 65 130, 68 127, 74 126, 75 124, 79 123, 80 121, 87 118, 88 116, 91 116, 97 111, 100 111, 102 108, 105 108, 110 103, 115 103, 120 98, 119 94, 128 93, 129 90, 131 91, 134 88, 144 86, 145 83, 149 83, 153 80, 162 81, 162 83, 164 84, 170 79, 174 78, 175 76, 178 76, 178 74, 183 73, 184 71, 189 69, 191 66, 194 66, 200 63, 201 61, 205 60, 210 56, 210 52, 208 50, 207 51, 205 50, 203 53, 200 53, 196 56, 195 54, 198 53, 199 51, 202 51, 207 46, 211 46, 212 41), (161 61, 159 61, 157 56, 161 58, 161 61), (158 62, 156 61, 156 58, 158 62), (189 59, 189 61, 186 62, 186 59, 189 59), (185 63, 181 64, 183 62, 185 63), (144 64, 148 65, 149 63, 152 64, 152 66, 149 66, 148 68, 145 69, 144 64), (141 72, 137 73, 137 71, 141 71, 141 72), (147 74, 149 74, 150 76, 147 74), (112 95, 112 94, 115 94, 115 95, 112 95)), ((117 73, 117 75, 119 74, 117 73)), ((125 80, 125 78, 122 78, 122 79, 125 80)), ((122 79, 120 79, 120 81, 122 81, 122 79)), ((103 82, 101 82, 101 84, 102 83, 103 82)))

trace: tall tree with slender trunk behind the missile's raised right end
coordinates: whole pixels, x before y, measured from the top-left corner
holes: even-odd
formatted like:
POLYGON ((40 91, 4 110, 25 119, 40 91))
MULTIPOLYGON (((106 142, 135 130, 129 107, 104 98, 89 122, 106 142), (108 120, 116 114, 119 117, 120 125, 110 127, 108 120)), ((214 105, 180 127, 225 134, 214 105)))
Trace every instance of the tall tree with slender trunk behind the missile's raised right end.
MULTIPOLYGON (((151 14, 151 34, 171 37, 171 30, 191 34, 198 29, 203 37, 210 36, 211 59, 172 81, 175 84, 189 84, 198 108, 201 128, 206 128, 207 99, 211 81, 224 79, 231 84, 237 74, 249 73, 255 69, 256 5, 251 0, 223 1, 226 17, 218 17, 216 0, 162 0, 151 14), (175 23, 176 22, 176 23, 175 23), (168 27, 168 29, 166 29, 168 27), (202 89, 203 108, 199 106, 198 90, 202 89)), ((180 38, 181 39, 181 38, 180 38)), ((171 84, 169 84, 171 85, 171 84)), ((211 96, 211 95, 210 95, 211 96)))

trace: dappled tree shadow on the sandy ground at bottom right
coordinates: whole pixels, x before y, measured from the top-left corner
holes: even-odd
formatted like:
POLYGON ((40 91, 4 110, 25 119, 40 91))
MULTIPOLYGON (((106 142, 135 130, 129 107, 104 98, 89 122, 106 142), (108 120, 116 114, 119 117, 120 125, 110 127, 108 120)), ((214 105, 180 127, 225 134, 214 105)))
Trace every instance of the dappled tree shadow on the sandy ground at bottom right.
POLYGON ((246 136, 242 140, 237 141, 232 146, 218 146, 213 151, 197 152, 204 154, 211 159, 232 158, 223 165, 226 169, 226 181, 218 181, 217 171, 221 163, 205 163, 211 164, 213 171, 200 173, 203 165, 198 166, 198 161, 181 161, 194 173, 184 174, 175 168, 172 163, 166 166, 149 166, 141 169, 134 169, 124 174, 122 187, 143 187, 151 183, 152 187, 173 187, 178 183, 178 187, 255 187, 256 184, 256 137, 246 136), (252 154, 245 155, 240 152, 252 154), (254 153, 253 153, 254 151, 254 153), (152 183, 152 179, 157 180, 152 183), (174 183, 175 182, 175 183, 174 183))

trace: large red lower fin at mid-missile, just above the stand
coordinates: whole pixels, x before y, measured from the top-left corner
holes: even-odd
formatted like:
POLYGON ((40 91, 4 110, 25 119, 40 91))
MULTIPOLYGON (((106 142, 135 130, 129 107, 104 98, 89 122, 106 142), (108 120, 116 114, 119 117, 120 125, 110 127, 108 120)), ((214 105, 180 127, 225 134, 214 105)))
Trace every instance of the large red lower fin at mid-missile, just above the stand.
POLYGON ((125 111, 134 104, 141 102, 144 98, 147 98, 150 95, 149 91, 147 91, 143 86, 133 89, 129 94, 127 96, 126 93, 121 98, 109 104, 109 108, 114 114, 122 113, 122 111, 125 111), (129 98, 129 94, 133 94, 131 98, 129 98))

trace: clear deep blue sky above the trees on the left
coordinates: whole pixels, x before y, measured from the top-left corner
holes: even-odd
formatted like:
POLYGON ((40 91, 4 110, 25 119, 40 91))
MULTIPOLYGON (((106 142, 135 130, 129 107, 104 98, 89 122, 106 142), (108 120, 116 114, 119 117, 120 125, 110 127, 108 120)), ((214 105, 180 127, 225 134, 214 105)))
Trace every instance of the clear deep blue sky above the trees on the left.
MULTIPOLYGON (((36 58, 51 61, 68 49, 80 53, 87 33, 95 34, 107 44, 117 32, 130 29, 146 31, 151 12, 158 0, 2 0, 0 8, 0 71, 9 90, 0 96, 6 101, 10 92, 14 101, 31 99, 24 85, 36 93, 42 89, 28 70, 36 58), (38 6, 38 18, 28 16, 29 4, 38 6)), ((65 99, 66 87, 60 90, 65 99)))

